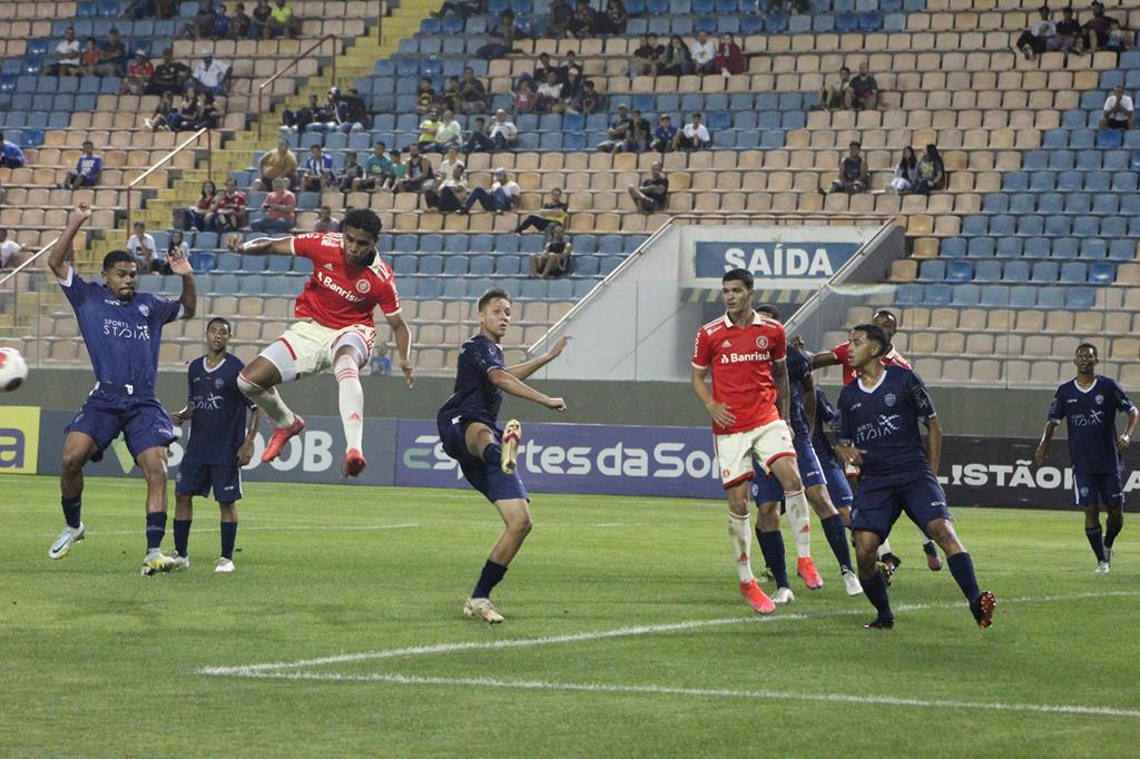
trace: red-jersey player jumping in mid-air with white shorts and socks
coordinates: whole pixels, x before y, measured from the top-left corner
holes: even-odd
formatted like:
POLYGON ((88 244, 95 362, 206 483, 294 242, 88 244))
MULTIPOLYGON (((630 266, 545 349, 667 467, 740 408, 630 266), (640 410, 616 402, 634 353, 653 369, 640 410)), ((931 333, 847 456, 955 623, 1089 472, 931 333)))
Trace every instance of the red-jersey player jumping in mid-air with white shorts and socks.
POLYGON ((229 240, 235 253, 300 255, 312 261, 312 278, 296 299, 298 321, 261 351, 238 375, 237 385, 274 421, 261 460, 277 458, 290 438, 304 430, 274 387, 332 367, 340 385, 341 424, 344 426, 344 476, 357 476, 367 466, 364 435, 364 390, 359 369, 372 356, 376 338, 373 310, 378 305, 396 336, 400 369, 415 382, 412 336, 400 316, 400 296, 391 268, 376 254, 380 217, 368 209, 344 215, 343 232, 311 232, 282 239, 229 240))

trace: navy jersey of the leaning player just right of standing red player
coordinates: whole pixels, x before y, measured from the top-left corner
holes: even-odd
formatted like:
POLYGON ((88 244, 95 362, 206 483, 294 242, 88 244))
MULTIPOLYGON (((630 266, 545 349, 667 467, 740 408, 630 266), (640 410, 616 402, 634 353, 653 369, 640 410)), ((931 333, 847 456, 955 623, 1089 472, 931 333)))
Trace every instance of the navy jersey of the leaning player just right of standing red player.
POLYGON ((934 402, 919 375, 883 367, 872 390, 853 382, 839 393, 839 441, 865 451, 864 476, 930 471, 919 423, 933 416, 934 402))

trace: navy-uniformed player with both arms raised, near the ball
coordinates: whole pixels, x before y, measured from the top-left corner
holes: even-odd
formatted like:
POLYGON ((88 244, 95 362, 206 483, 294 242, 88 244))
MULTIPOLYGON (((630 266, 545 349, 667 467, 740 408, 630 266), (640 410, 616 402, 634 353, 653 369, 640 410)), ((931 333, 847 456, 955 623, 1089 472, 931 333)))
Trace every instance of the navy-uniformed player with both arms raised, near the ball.
POLYGON ((174 425, 154 393, 158 342, 164 325, 194 316, 194 274, 186 258, 176 252, 166 256, 166 262, 182 278, 181 297, 169 301, 138 293, 135 259, 127 251, 112 251, 103 259, 103 283, 85 281, 66 259, 75 235, 90 217, 91 209, 79 204, 48 254, 48 268, 75 310, 96 378, 83 408, 67 425, 59 474, 67 527, 51 544, 48 557, 63 558, 83 539, 83 465, 101 457, 122 433, 146 479, 147 553, 142 573, 153 574, 174 565, 161 549, 166 532, 166 447, 174 441, 174 425))

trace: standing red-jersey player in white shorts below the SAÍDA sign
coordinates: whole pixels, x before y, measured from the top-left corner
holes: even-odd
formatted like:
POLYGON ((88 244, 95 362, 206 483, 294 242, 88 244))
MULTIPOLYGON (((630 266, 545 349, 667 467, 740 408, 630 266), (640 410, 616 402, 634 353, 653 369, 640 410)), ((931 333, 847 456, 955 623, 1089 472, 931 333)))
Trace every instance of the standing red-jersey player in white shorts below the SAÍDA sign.
POLYGON ((736 557, 740 593, 756 612, 771 614, 775 604, 752 574, 748 495, 755 458, 780 481, 788 508, 797 506, 807 512, 792 433, 785 422, 790 402, 784 365, 788 345, 783 325, 752 310, 749 271, 727 272, 720 294, 726 313, 697 333, 692 386, 712 417, 720 482, 728 496, 728 538, 736 557), (705 384, 709 372, 711 393, 705 384))

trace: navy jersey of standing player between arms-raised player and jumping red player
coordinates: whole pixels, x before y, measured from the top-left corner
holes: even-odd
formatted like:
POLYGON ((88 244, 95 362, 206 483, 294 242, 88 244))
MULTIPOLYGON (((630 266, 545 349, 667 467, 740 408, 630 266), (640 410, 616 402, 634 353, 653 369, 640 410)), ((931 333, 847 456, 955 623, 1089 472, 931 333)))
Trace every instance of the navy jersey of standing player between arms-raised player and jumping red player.
POLYGON ((230 464, 245 442, 245 411, 253 403, 237 389, 242 359, 226 353, 221 364, 206 368, 205 357, 190 361, 188 403, 190 441, 186 458, 199 464, 230 464))

